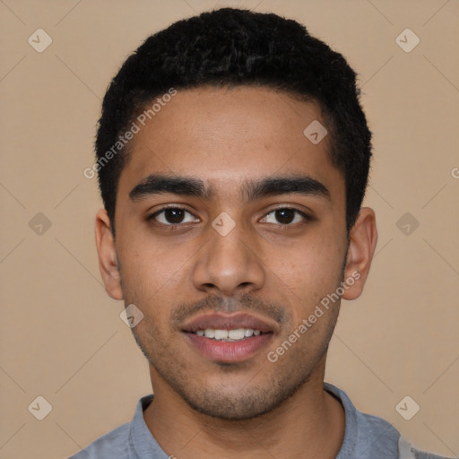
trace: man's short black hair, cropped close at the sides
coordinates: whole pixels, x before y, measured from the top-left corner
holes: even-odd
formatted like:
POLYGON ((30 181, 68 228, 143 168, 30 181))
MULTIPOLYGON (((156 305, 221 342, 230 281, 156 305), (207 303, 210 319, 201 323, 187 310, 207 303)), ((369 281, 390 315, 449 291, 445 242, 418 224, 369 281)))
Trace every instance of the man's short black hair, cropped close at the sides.
POLYGON ((318 103, 330 134, 330 159, 346 184, 349 233, 365 195, 371 157, 356 76, 341 54, 309 35, 305 26, 274 13, 221 8, 155 33, 126 59, 102 103, 96 170, 113 234, 117 185, 129 154, 120 136, 134 126, 135 117, 171 88, 240 85, 265 86, 318 103))

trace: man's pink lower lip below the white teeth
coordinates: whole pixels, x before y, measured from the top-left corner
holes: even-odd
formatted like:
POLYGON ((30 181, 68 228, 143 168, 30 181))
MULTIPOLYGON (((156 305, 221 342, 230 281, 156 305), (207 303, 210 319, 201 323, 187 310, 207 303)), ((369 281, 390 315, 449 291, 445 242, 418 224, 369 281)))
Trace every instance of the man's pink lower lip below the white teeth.
POLYGON ((207 359, 218 362, 240 362, 260 351, 273 337, 273 333, 262 333, 241 341, 219 341, 185 333, 192 345, 207 359))

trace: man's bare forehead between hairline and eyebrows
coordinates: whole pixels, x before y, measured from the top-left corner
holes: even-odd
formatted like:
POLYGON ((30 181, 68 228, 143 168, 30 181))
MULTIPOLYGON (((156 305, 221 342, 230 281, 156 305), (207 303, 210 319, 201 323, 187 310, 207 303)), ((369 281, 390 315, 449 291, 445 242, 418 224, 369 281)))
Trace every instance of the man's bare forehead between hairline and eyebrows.
POLYGON ((268 88, 206 87, 178 90, 158 108, 143 124, 135 120, 139 132, 129 145, 120 196, 155 173, 202 178, 221 193, 247 180, 299 173, 344 189, 328 136, 313 143, 304 133, 311 123, 325 125, 313 101, 268 88))

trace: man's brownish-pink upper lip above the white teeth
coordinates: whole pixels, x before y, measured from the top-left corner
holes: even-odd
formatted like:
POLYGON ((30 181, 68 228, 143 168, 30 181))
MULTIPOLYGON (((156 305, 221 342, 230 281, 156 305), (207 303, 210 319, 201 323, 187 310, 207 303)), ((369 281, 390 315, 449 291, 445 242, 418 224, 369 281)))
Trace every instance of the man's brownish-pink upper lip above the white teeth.
POLYGON ((269 325, 263 319, 260 319, 250 314, 232 314, 230 316, 224 314, 204 314, 196 316, 183 327, 184 332, 196 333, 198 330, 212 328, 214 330, 235 330, 237 328, 251 328, 252 330, 260 330, 262 333, 273 332, 274 326, 269 325))

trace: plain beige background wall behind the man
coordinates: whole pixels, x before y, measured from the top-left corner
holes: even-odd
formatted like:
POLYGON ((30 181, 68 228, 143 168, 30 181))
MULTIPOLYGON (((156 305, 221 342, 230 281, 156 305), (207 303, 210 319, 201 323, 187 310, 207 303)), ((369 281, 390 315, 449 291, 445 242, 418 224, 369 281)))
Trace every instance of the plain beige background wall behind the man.
MULTIPOLYGON (((417 446, 458 455, 459 2, 220 4, 293 17, 359 72, 375 133, 366 202, 379 242, 367 290, 343 304, 326 380, 417 446), (395 42, 406 28, 420 38, 410 53, 395 42), (397 226, 405 212, 417 229, 397 226), (395 410, 405 395, 420 405, 411 420, 395 410)), ((152 32, 214 5, 0 0, 2 458, 72 455, 130 420, 151 392, 146 361, 119 318, 123 304, 101 286, 100 198, 82 171, 91 167, 100 99, 126 56, 152 32), (53 39, 42 53, 28 43, 39 28, 53 39), (40 221, 29 225, 39 212, 51 222, 41 234, 40 221), (44 420, 28 410, 39 395, 52 405, 44 420)))

